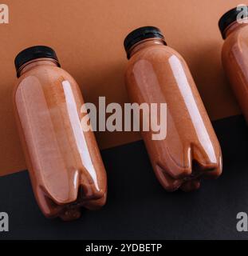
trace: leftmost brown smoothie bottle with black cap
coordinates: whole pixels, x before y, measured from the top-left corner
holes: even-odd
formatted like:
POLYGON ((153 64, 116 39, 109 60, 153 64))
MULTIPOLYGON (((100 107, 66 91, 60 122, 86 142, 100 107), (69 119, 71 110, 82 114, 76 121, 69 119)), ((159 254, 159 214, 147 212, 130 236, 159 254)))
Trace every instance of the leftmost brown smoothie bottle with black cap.
POLYGON ((93 131, 81 126, 84 100, 55 52, 33 46, 15 58, 14 110, 33 191, 43 214, 72 220, 104 206, 107 181, 93 131))

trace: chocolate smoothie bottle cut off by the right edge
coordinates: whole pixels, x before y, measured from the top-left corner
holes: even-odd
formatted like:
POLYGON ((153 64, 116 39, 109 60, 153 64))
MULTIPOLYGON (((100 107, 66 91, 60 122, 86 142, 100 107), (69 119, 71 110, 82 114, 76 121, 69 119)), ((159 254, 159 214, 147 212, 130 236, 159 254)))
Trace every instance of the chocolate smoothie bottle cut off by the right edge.
MULTIPOLYGON (((248 7, 244 6, 244 8, 247 10, 248 7)), ((225 40, 222 46, 222 66, 238 99, 238 104, 242 109, 246 122, 248 122, 247 22, 247 12, 237 8, 228 11, 218 22, 222 38, 225 40)))

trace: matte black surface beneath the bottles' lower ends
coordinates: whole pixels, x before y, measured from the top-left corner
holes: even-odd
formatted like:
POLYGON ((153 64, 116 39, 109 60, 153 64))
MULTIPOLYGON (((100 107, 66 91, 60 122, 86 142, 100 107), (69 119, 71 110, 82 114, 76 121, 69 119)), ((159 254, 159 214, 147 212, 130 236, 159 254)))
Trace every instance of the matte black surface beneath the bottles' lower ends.
POLYGON ((0 178, 0 212, 10 232, 0 239, 247 239, 236 230, 238 212, 248 213, 248 129, 242 116, 214 122, 224 169, 190 194, 167 193, 156 181, 143 142, 110 150, 102 157, 108 173, 108 202, 82 210, 75 222, 46 219, 26 171, 0 178))

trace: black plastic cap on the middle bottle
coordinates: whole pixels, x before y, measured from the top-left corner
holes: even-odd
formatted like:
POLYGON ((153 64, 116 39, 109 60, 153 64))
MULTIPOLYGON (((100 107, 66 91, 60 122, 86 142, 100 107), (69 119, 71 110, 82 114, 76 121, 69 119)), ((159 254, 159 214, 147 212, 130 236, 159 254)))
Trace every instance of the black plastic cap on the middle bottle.
MULTIPOLYGON (((143 26, 133 30, 124 40, 124 48, 128 54, 128 50, 137 42, 147 38, 161 38, 164 40, 162 32, 155 26, 143 26)), ((166 42, 164 42, 166 44, 166 42)), ((128 56, 128 58, 130 58, 128 56)))

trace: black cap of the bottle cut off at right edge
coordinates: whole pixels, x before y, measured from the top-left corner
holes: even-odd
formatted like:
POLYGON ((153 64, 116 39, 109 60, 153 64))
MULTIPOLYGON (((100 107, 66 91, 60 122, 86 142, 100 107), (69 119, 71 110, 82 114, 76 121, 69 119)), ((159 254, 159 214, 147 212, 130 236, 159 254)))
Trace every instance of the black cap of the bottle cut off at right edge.
POLYGON ((218 22, 219 30, 222 34, 222 38, 225 39, 225 30, 227 26, 230 26, 231 23, 238 21, 238 14, 242 13, 242 19, 247 18, 247 12, 243 9, 247 10, 248 6, 238 6, 232 10, 229 10, 220 18, 218 22), (239 7, 239 8, 238 8, 239 7), (242 8, 243 7, 243 8, 242 8))

